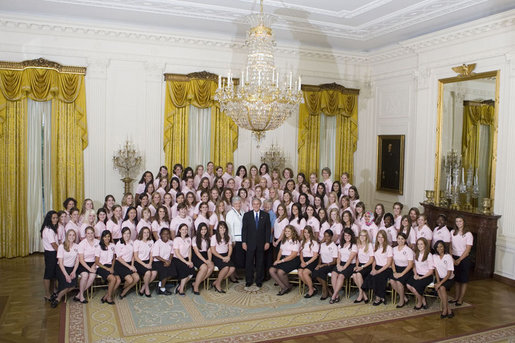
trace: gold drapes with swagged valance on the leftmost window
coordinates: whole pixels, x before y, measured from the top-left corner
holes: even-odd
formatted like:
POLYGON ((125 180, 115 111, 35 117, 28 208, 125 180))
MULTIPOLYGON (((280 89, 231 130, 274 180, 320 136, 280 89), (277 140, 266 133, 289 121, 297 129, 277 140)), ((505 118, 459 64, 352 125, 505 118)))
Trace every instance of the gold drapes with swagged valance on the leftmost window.
POLYGON ((82 150, 88 145, 85 69, 63 67, 81 70, 81 73, 61 73, 49 68, 23 69, 24 63, 0 62, 0 257, 24 256, 29 252, 27 98, 52 101, 54 206, 60 207, 67 196, 78 201, 84 198, 82 150), (4 69, 5 64, 13 65, 14 69, 4 69))

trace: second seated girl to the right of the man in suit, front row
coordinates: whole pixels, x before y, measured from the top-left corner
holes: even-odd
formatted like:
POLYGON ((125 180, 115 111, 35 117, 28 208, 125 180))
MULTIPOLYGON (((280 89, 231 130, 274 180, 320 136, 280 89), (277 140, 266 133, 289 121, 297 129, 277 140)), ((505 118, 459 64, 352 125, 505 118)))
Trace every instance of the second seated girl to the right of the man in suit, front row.
POLYGON ((318 250, 320 244, 317 240, 317 235, 310 225, 306 225, 302 231, 302 241, 300 243, 300 266, 299 278, 308 286, 308 293, 304 298, 311 298, 316 294, 316 288, 313 287, 313 280, 311 274, 318 265, 318 250))

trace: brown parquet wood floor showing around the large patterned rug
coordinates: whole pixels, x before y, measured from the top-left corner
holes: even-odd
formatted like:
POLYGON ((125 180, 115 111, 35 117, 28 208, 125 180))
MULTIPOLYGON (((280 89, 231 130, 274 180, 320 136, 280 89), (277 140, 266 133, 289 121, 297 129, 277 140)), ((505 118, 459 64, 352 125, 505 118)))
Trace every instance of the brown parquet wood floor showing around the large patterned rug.
MULTIPOLYGON (((0 259, 0 342, 58 342, 59 310, 43 300, 42 254, 0 259)), ((494 280, 473 281, 453 319, 423 315, 328 332, 285 342, 427 342, 515 323, 515 288, 494 280)))

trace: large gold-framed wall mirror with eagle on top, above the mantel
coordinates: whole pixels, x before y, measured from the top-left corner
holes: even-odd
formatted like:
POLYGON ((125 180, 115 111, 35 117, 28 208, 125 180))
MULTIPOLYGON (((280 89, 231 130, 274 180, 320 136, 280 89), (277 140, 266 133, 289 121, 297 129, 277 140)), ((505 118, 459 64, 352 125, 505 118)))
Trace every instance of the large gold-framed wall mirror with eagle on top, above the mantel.
POLYGON ((435 201, 467 211, 493 201, 497 159, 499 71, 473 68, 438 83, 435 201))

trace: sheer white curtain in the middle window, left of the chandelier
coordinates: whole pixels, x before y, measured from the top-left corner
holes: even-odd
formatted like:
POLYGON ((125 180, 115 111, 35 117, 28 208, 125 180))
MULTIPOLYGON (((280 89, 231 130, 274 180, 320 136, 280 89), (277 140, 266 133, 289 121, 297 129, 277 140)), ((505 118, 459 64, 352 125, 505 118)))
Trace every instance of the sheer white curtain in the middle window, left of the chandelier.
POLYGON ((211 108, 190 106, 188 122, 189 165, 206 165, 211 155, 211 108))

